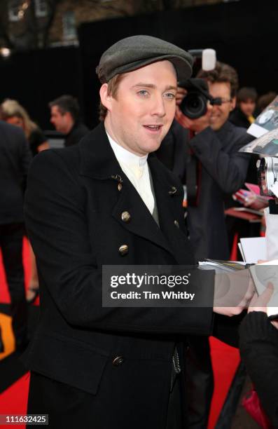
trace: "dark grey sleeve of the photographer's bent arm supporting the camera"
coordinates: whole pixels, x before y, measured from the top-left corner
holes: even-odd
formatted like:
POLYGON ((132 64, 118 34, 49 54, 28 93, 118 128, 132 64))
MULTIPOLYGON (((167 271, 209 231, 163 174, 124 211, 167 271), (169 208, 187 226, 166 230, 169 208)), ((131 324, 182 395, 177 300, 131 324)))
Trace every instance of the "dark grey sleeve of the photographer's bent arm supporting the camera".
POLYGON ((248 141, 246 133, 237 135, 232 151, 227 153, 216 132, 208 127, 190 140, 190 147, 222 191, 233 193, 244 184, 249 155, 242 154, 239 149, 248 141))

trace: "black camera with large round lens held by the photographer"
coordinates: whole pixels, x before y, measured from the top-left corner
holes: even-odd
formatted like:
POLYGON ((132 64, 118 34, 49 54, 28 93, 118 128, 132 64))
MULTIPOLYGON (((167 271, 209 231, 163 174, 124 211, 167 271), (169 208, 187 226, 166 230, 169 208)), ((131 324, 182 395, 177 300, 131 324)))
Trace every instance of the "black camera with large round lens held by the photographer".
POLYGON ((207 113, 207 102, 221 106, 222 100, 219 97, 211 97, 207 82, 204 79, 187 79, 179 82, 179 86, 187 90, 186 96, 181 102, 180 109, 183 115, 190 119, 197 119, 207 113))

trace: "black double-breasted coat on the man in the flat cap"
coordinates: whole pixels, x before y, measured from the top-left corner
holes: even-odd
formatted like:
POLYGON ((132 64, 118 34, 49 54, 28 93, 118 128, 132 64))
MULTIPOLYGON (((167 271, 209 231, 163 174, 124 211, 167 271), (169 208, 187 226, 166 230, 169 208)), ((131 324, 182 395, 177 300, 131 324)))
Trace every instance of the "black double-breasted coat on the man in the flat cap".
POLYGON ((211 332, 211 308, 102 307, 104 264, 195 262, 181 185, 155 155, 148 166, 160 227, 120 169, 103 124, 74 147, 39 154, 29 172, 25 217, 41 315, 24 359, 91 393, 95 429, 165 428, 174 343, 211 332))

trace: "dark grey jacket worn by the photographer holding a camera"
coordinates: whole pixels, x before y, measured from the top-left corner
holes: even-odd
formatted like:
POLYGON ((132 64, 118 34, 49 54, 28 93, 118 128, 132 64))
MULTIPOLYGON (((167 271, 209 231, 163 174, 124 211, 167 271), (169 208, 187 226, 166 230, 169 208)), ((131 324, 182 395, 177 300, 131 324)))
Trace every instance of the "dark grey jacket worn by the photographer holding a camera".
POLYGON ((188 130, 174 121, 156 152, 183 184, 192 181, 196 159, 200 164, 197 205, 188 204, 187 208, 190 241, 199 261, 229 259, 224 200, 244 184, 250 156, 239 149, 251 138, 244 128, 227 121, 216 132, 206 128, 189 144, 188 130))

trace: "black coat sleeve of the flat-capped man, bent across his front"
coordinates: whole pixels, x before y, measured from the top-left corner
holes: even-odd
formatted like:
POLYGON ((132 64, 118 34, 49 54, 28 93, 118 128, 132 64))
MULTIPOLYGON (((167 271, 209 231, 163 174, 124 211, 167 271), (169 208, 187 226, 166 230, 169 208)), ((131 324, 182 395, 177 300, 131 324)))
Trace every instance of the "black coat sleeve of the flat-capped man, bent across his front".
MULTIPOLYGON (((93 246, 89 238, 85 205, 85 188, 61 151, 38 154, 29 171, 25 219, 36 255, 42 304, 46 288, 65 320, 87 329, 210 334, 211 308, 102 307, 102 266, 96 263, 97 243, 93 246)), ((212 297, 213 293, 214 285, 212 297)))

